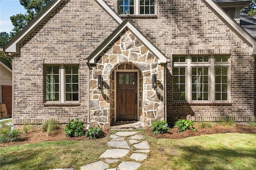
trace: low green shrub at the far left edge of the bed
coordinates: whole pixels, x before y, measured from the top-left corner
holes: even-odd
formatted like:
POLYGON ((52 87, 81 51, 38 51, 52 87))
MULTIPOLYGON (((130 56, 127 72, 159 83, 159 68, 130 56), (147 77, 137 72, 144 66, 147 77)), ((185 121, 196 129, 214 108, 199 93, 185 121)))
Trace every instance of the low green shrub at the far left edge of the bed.
POLYGON ((11 128, 2 128, 0 131, 0 143, 4 142, 14 142, 20 140, 20 132, 19 130, 12 130, 11 128))

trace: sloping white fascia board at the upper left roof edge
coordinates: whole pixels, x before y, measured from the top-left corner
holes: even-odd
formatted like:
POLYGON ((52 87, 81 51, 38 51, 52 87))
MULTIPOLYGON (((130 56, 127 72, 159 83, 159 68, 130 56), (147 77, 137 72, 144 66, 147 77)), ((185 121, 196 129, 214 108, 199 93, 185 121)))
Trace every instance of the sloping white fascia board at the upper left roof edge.
POLYGON ((34 18, 25 28, 23 28, 10 42, 4 45, 5 52, 18 53, 19 43, 22 42, 42 21, 55 10, 63 0, 53 0, 51 4, 46 6, 46 8, 40 12, 36 18, 34 18))

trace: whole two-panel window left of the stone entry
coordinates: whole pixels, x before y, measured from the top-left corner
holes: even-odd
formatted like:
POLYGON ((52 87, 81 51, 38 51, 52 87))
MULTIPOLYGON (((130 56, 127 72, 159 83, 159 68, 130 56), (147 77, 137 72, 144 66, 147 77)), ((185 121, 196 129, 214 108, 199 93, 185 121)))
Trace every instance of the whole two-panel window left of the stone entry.
POLYGON ((79 66, 45 65, 45 101, 79 101, 79 66))

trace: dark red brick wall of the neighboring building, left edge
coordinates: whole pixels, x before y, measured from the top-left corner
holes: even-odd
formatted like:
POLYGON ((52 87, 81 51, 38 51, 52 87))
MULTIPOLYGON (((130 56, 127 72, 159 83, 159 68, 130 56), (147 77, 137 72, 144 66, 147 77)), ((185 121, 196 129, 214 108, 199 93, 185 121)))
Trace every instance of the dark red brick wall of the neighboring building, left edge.
POLYGON ((12 116, 12 86, 2 85, 2 103, 6 105, 8 116, 12 116))

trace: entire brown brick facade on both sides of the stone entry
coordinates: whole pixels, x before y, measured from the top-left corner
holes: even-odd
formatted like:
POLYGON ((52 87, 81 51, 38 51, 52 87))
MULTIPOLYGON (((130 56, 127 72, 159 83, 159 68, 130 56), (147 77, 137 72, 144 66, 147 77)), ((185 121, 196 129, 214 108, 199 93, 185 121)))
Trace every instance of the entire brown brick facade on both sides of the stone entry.
MULTIPOLYGON (((106 2, 118 11, 117 0, 106 2)), ((161 77, 166 80, 166 95, 162 102, 168 121, 180 118, 218 121, 223 116, 234 117, 236 121, 254 120, 255 59, 249 55, 250 47, 201 0, 193 3, 187 0, 157 0, 156 15, 129 16, 128 19, 168 58, 165 77, 161 77), (172 102, 172 55, 181 54, 230 55, 230 101, 172 102)), ((47 119, 68 123, 72 118, 84 122, 89 121, 89 117, 94 119, 89 111, 88 90, 93 68, 88 67, 84 59, 117 26, 93 0, 64 1, 54 10, 20 43, 20 55, 13 60, 13 123, 23 124, 26 120, 26 123, 40 124, 47 119), (79 65, 79 102, 45 103, 44 65, 47 64, 79 65)), ((148 76, 144 75, 143 81, 148 76)), ((108 123, 111 118, 106 119, 108 123)))

